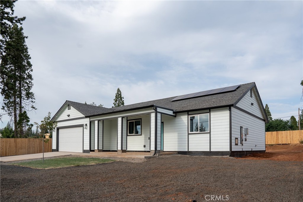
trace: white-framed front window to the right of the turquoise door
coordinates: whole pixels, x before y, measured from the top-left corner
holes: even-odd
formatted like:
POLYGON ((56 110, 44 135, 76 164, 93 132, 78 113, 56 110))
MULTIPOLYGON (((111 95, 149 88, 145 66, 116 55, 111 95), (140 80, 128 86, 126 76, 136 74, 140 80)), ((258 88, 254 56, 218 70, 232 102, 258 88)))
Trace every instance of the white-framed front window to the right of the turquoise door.
POLYGON ((197 114, 189 116, 189 132, 209 132, 209 114, 197 114))

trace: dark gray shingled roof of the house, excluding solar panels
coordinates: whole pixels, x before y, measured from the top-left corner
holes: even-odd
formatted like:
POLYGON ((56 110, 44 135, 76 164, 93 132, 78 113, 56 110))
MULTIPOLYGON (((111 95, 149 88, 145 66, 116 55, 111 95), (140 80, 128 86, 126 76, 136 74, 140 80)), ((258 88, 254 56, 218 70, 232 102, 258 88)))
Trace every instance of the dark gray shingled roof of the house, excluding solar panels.
MULTIPOLYGON (((172 99, 177 97, 174 96, 170 98, 140 102, 136 104, 129 104, 115 108, 97 107, 90 104, 83 104, 73 101, 66 101, 65 104, 67 103, 71 104, 75 109, 77 109, 86 117, 108 114, 108 113, 117 113, 119 111, 132 110, 137 108, 145 108, 153 105, 169 108, 174 110, 175 112, 193 111, 193 110, 201 110, 201 109, 209 109, 209 108, 219 108, 224 106, 232 106, 238 100, 240 100, 249 91, 249 89, 252 88, 252 86, 255 86, 255 82, 241 84, 236 91, 232 91, 232 92, 212 94, 203 97, 190 98, 186 100, 171 101, 172 99)), ((61 109, 65 106, 65 104, 63 104, 63 106, 55 114, 55 116, 61 111, 61 109)))

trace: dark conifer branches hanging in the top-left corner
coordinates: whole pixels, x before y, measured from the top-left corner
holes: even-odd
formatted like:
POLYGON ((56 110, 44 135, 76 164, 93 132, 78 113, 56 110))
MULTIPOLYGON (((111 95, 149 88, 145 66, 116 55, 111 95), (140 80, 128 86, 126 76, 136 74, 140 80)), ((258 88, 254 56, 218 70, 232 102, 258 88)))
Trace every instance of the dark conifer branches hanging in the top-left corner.
POLYGON ((18 18, 14 16, 14 7, 15 2, 17 0, 1 0, 0 1, 0 30, 1 30, 1 38, 0 38, 0 55, 1 60, 5 55, 5 46, 6 42, 9 39, 9 30, 12 28, 14 24, 22 25, 22 22, 25 20, 25 17, 18 18))

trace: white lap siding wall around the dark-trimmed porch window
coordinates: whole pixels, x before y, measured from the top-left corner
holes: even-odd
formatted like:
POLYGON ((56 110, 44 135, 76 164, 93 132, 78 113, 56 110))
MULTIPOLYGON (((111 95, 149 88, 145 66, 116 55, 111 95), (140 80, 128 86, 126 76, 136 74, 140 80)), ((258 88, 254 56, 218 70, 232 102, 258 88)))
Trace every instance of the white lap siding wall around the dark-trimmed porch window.
MULTIPOLYGON (((141 121, 141 134, 138 136, 127 136, 127 150, 128 151, 149 151, 149 133, 150 133, 150 114, 142 116, 132 116, 128 117, 128 120, 132 119, 142 119, 141 121), (143 147, 145 145, 145 147, 143 147)), ((155 122, 155 119, 154 119, 155 122)), ((155 145, 155 142, 153 142, 155 145)), ((154 146, 155 147, 155 146, 154 146)), ((152 148, 154 148, 152 147, 152 148)))

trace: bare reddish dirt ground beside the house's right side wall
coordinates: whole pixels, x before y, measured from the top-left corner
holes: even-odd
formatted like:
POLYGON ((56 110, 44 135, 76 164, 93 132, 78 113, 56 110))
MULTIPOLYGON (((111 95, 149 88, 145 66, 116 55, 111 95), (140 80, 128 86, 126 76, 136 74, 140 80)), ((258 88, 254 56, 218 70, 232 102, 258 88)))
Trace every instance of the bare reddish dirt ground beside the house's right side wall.
POLYGON ((265 153, 249 154, 248 156, 241 158, 274 161, 303 161, 303 144, 266 145, 265 153))

